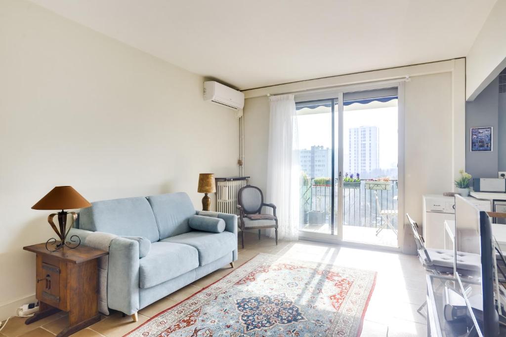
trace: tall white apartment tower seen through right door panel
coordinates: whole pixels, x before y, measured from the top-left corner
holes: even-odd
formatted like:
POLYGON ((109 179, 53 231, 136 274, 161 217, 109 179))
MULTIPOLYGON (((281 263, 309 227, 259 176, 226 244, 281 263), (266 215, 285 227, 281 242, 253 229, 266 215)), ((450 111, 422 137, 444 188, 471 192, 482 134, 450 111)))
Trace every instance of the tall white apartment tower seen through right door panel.
POLYGON ((360 126, 349 131, 348 169, 350 174, 365 174, 379 169, 379 130, 360 126))

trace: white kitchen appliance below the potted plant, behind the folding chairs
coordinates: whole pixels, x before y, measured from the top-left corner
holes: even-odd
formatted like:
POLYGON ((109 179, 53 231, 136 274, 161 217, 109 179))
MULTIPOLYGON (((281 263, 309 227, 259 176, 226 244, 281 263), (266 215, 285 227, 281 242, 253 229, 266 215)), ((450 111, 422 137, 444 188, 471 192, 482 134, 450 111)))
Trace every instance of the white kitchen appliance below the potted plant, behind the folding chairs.
MULTIPOLYGON (((480 200, 473 197, 466 197, 480 211, 490 212, 489 200, 480 200)), ((444 221, 455 221, 455 198, 443 197, 442 195, 423 196, 423 236, 427 248, 444 249, 444 221)))

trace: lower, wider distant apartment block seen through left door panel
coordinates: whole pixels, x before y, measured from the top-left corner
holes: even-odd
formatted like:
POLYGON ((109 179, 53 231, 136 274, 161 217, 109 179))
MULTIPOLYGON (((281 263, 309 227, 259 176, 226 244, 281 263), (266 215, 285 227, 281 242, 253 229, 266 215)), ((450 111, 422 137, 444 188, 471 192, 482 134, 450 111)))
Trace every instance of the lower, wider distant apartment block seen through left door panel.
POLYGON ((322 146, 300 150, 301 170, 310 178, 332 175, 332 150, 322 146))

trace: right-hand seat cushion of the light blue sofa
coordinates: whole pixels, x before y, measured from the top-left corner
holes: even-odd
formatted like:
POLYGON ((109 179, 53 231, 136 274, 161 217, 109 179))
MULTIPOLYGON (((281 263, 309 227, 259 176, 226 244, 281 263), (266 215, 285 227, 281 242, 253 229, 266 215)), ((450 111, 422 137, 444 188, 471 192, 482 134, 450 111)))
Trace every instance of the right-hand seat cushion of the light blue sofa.
POLYGON ((188 233, 167 237, 162 242, 172 242, 195 247, 201 266, 218 260, 225 254, 237 249, 237 238, 234 233, 224 231, 210 233, 194 230, 188 233))

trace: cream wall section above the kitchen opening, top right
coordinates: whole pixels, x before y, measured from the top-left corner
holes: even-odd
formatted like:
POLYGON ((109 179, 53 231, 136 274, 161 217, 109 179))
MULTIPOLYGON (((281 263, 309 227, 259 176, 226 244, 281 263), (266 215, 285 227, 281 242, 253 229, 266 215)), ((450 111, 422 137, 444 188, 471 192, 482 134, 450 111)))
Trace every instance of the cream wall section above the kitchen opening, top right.
POLYGON ((497 0, 466 56, 466 99, 473 101, 506 67, 506 0, 497 0))

